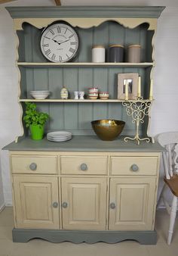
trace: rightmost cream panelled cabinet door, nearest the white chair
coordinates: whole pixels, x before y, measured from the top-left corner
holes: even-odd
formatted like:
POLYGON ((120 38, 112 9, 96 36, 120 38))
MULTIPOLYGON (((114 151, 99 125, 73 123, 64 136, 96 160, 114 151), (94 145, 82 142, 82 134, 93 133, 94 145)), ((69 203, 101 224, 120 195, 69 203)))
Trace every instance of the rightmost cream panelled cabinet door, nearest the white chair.
POLYGON ((152 230, 155 213, 155 178, 110 180, 109 229, 152 230))

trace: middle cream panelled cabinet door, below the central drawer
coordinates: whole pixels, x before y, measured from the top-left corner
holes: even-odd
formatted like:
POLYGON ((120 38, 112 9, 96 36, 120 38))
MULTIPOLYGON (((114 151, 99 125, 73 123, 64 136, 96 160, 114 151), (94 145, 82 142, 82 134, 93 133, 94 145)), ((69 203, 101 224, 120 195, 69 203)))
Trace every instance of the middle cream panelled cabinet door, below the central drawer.
POLYGON ((106 229, 106 179, 62 178, 63 229, 106 229))

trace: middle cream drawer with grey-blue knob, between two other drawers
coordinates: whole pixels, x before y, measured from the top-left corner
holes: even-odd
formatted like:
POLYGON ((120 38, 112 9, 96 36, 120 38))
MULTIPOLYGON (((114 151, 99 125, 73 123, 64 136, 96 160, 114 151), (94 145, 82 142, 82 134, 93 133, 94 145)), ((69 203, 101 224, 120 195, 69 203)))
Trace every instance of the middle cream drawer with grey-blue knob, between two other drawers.
POLYGON ((61 156, 62 174, 106 174, 108 158, 106 156, 61 156))

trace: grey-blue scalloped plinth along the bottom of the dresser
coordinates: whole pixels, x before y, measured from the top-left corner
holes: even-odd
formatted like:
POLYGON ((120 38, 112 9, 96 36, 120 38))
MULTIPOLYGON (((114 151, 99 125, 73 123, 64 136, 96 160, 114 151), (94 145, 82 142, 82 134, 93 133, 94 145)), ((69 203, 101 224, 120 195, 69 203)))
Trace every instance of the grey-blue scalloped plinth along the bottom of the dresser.
POLYGON ((49 242, 107 242, 114 244, 124 240, 134 240, 141 245, 155 245, 157 233, 153 231, 81 231, 81 230, 44 230, 13 229, 13 242, 28 242, 31 239, 44 239, 49 242))

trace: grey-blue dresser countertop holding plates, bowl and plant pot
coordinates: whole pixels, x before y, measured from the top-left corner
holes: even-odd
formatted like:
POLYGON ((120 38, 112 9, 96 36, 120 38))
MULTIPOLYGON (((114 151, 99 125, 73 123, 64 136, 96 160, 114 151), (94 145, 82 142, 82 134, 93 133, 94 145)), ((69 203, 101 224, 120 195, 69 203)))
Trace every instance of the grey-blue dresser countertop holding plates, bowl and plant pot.
POLYGON ((28 138, 20 138, 18 142, 11 142, 4 150, 9 151, 143 151, 160 152, 164 148, 158 142, 124 142, 124 137, 120 136, 113 141, 102 141, 97 136, 72 136, 67 142, 50 142, 44 138, 38 141, 28 138))

